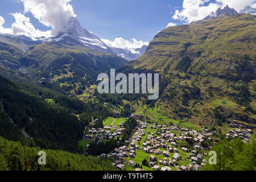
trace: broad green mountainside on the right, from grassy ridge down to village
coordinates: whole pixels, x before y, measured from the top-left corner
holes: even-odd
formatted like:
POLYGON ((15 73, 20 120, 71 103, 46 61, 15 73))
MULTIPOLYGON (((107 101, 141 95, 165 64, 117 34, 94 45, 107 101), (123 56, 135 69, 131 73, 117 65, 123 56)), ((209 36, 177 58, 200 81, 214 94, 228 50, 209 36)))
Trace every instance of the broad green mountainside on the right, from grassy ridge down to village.
POLYGON ((162 94, 156 105, 170 117, 201 126, 222 125, 224 120, 214 114, 219 110, 229 122, 255 125, 255 28, 250 14, 224 14, 170 27, 126 67, 160 73, 162 94), (229 104, 221 104, 223 100, 229 104))

